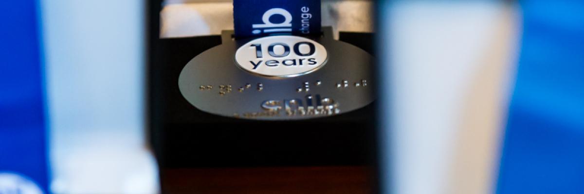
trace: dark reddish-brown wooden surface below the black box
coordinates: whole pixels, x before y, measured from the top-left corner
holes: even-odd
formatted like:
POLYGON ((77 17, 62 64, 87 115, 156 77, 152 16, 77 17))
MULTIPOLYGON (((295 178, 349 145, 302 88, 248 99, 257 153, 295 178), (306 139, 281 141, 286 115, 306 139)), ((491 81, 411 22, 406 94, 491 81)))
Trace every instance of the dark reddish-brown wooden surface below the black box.
POLYGON ((370 167, 172 168, 162 193, 374 193, 370 167))

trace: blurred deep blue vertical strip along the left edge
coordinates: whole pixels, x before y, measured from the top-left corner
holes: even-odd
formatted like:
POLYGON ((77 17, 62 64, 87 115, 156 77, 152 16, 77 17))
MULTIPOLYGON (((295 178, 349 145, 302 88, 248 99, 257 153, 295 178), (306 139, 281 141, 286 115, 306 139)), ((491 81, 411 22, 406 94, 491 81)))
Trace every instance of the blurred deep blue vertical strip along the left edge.
POLYGON ((23 181, 47 191, 37 4, 21 0, 0 6, 0 192, 30 193, 23 181))

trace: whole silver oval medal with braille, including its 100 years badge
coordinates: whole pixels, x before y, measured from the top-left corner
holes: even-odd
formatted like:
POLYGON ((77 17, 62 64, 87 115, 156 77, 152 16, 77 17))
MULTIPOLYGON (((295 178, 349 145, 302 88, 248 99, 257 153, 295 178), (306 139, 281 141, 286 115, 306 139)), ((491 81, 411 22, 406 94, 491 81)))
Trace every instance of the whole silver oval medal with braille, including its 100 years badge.
POLYGON ((232 40, 203 52, 179 76, 183 97, 201 111, 263 120, 343 114, 373 100, 373 58, 327 36, 232 40), (261 62, 260 62, 261 61, 261 62), (255 68, 255 69, 254 69, 255 68))

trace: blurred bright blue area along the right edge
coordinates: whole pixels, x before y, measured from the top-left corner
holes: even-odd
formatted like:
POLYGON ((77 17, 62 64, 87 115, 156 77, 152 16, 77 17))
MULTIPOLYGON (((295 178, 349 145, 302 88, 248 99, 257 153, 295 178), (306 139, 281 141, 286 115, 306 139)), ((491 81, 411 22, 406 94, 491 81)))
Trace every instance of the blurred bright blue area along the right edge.
POLYGON ((584 2, 522 1, 498 193, 584 193, 584 2))

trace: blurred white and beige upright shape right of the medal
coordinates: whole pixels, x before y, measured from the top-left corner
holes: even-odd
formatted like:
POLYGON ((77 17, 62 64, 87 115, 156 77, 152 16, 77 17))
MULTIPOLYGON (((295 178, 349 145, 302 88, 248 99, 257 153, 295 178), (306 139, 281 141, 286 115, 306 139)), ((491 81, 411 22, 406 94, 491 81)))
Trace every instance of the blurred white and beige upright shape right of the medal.
POLYGON ((516 6, 379 6, 384 193, 493 193, 519 43, 516 6))

